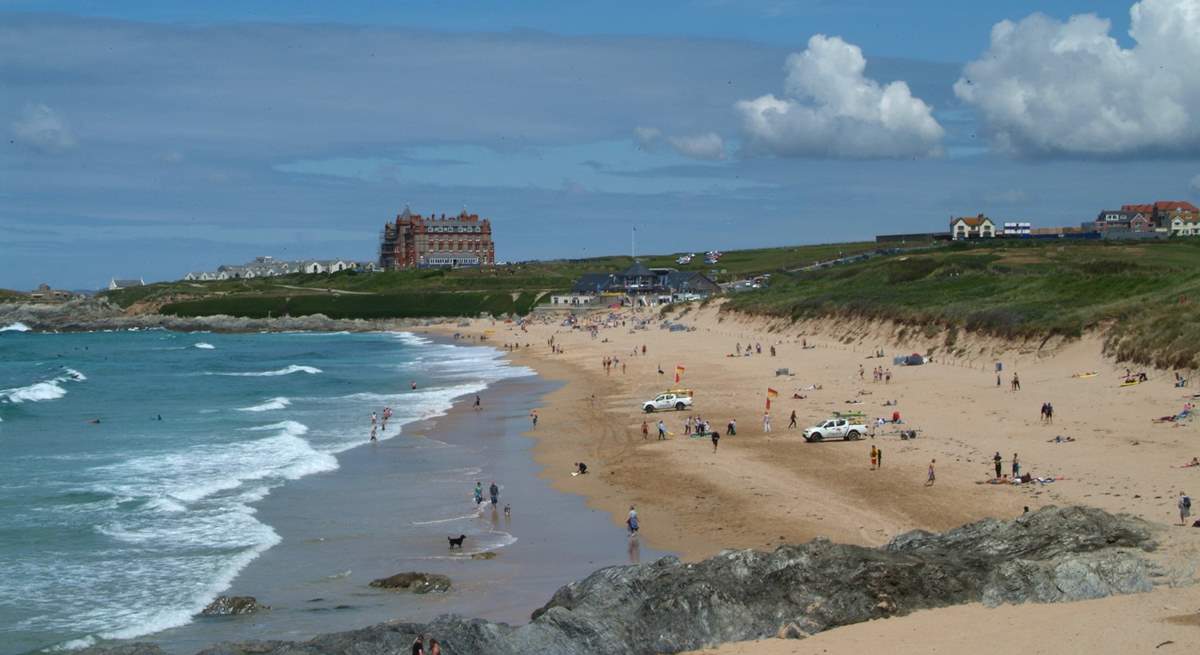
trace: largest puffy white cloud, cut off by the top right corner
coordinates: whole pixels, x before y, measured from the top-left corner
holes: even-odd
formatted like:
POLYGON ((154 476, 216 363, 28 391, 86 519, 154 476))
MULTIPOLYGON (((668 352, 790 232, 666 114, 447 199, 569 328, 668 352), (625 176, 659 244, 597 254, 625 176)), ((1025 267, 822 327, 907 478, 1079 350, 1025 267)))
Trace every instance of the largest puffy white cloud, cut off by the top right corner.
POLYGON ((1122 48, 1094 14, 1003 20, 954 92, 995 148, 1021 156, 1120 157, 1200 146, 1200 0, 1144 0, 1122 48))

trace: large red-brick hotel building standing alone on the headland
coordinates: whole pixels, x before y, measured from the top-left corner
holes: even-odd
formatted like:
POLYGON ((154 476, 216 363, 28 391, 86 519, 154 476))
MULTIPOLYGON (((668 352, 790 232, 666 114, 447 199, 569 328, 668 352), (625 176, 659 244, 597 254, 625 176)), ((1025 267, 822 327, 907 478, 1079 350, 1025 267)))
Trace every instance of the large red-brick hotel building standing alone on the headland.
POLYGON ((492 222, 463 210, 457 216, 413 214, 408 208, 386 223, 379 239, 379 268, 492 266, 492 222))

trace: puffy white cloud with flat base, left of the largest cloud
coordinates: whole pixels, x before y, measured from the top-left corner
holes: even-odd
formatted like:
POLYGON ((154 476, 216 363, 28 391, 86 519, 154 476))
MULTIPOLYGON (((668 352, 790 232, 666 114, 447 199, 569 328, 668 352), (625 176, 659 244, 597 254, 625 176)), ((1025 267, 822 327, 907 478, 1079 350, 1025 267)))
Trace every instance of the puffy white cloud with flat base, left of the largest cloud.
POLYGON ((858 46, 816 35, 785 66, 785 97, 737 103, 751 151, 793 157, 890 158, 941 154, 944 131, 908 85, 863 76, 858 46))

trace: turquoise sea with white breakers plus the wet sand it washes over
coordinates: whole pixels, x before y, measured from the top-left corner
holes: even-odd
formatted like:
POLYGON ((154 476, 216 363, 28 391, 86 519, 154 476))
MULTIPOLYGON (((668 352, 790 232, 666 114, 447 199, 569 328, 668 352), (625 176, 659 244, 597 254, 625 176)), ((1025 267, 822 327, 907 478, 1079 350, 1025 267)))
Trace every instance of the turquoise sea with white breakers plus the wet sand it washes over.
POLYGON ((305 638, 457 611, 455 597, 527 615, 568 576, 641 557, 611 517, 538 477, 521 434, 551 389, 498 349, 403 332, 0 328, 0 654, 305 638), (488 413, 466 411, 454 434, 409 434, 475 395, 488 413), (394 415, 370 443, 384 407, 394 415), (564 522, 522 534, 498 507, 488 515, 470 488, 497 476, 498 505, 521 499, 517 517, 564 522), (553 529, 574 535, 577 557, 529 576, 570 548, 553 529), (467 548, 448 552, 457 534, 467 548), (470 560, 480 552, 511 557, 510 569, 470 560), (366 585, 414 566, 450 571, 467 591, 428 607, 366 585), (490 587, 497 571, 520 584, 490 587), (197 617, 234 591, 274 609, 197 617))

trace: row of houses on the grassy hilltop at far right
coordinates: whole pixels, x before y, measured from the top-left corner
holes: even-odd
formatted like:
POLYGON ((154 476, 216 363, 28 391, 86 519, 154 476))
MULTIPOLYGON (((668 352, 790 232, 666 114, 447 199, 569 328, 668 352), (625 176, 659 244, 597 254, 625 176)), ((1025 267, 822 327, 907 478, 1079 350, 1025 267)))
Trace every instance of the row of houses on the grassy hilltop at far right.
POLYGON ((1186 200, 1158 200, 1148 204, 1121 205, 1102 210, 1094 220, 1080 227, 1034 228, 1027 222, 1006 222, 1002 228, 979 214, 950 217, 949 238, 994 239, 998 236, 1080 236, 1092 239, 1136 239, 1200 236, 1200 209, 1186 200))

